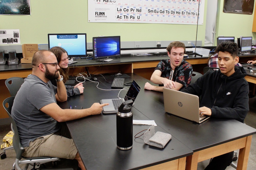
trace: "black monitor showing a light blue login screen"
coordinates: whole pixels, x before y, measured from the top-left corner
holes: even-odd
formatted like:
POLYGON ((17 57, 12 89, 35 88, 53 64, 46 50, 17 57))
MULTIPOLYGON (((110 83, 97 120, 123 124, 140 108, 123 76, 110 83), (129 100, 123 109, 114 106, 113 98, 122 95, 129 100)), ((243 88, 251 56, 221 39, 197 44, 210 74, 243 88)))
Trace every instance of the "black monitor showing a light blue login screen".
POLYGON ((86 33, 48 34, 49 49, 54 46, 64 48, 69 57, 86 57, 86 33))

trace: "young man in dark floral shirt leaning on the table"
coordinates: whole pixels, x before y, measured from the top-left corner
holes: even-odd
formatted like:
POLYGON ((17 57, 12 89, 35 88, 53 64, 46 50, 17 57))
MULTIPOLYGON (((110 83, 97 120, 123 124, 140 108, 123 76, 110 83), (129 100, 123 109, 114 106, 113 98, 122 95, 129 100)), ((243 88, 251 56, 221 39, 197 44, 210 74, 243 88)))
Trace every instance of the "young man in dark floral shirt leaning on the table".
POLYGON ((193 68, 183 59, 186 52, 185 44, 174 41, 166 50, 170 59, 161 60, 150 78, 151 82, 159 86, 153 86, 147 82, 144 89, 163 92, 163 87, 179 90, 190 84, 193 68))

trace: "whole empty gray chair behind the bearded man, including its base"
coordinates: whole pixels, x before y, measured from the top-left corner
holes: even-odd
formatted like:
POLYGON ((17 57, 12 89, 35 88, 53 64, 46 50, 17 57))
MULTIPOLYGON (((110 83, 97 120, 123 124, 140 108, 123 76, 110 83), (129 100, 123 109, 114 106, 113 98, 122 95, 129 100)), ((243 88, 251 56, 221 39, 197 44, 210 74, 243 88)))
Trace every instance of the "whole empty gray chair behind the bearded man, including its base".
MULTIPOLYGON (((5 81, 5 85, 8 88, 8 90, 10 92, 10 95, 12 97, 16 96, 17 92, 20 89, 20 86, 23 83, 24 83, 24 79, 20 78, 20 77, 11 77, 11 78, 9 78, 5 81)), ((13 129, 12 129, 12 131, 13 131, 13 129)), ((13 149, 13 146, 9 146, 7 148, 4 148, 3 152, 0 154, 0 158, 5 159, 6 158, 6 153, 5 152, 6 152, 6 150, 10 150, 10 149, 13 149)))

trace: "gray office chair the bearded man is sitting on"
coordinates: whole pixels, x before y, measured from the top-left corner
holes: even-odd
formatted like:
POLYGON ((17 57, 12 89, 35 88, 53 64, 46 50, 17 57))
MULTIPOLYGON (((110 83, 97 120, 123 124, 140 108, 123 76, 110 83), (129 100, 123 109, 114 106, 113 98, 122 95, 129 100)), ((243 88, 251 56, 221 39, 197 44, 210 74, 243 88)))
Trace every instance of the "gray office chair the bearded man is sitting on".
POLYGON ((36 157, 36 158, 25 158, 22 156, 22 153, 24 152, 24 148, 22 147, 20 140, 19 140, 19 133, 16 126, 16 123, 14 122, 14 119, 11 115, 11 110, 13 106, 14 97, 8 97, 3 102, 3 107, 6 110, 8 116, 10 117, 10 120, 12 122, 11 127, 14 132, 13 136, 13 147, 16 153, 16 160, 13 164, 13 169, 17 168, 18 170, 22 170, 20 168, 19 164, 26 164, 24 169, 27 169, 29 164, 34 164, 34 169, 40 167, 40 163, 46 163, 51 161, 59 161, 60 158, 53 158, 53 157, 36 157))

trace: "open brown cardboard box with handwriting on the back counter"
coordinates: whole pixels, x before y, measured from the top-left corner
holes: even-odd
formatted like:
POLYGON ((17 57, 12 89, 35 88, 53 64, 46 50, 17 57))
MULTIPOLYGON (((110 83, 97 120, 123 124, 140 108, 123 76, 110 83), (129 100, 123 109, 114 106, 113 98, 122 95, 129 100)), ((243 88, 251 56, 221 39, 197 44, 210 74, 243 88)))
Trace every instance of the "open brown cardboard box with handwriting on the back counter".
POLYGON ((38 44, 22 44, 23 58, 21 63, 32 63, 32 58, 35 52, 38 51, 38 44))

